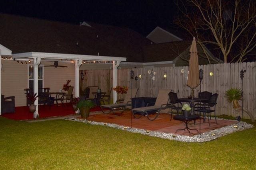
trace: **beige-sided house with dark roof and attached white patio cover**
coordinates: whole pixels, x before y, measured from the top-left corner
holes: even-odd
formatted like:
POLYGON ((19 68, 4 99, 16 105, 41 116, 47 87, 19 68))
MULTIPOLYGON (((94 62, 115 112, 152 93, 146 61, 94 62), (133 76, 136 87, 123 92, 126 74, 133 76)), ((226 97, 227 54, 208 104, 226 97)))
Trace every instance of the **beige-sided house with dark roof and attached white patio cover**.
POLYGON ((189 41, 155 44, 125 27, 91 22, 75 25, 10 14, 0 14, 0 21, 0 90, 16 96, 16 106, 26 105, 25 88, 59 91, 66 80, 71 80, 79 96, 79 70, 113 69, 116 86, 118 66, 174 66, 182 64, 177 57, 189 57, 189 41), (68 67, 55 67, 54 61, 68 67))

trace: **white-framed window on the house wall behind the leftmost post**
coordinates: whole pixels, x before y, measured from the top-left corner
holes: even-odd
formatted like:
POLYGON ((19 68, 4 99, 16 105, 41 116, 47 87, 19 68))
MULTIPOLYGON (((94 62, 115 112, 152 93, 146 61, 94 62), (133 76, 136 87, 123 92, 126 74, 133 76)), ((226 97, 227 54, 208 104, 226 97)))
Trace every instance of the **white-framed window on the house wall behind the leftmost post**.
MULTIPOLYGON (((43 88, 43 66, 38 66, 38 89, 43 88)), ((28 85, 30 89, 34 89, 34 67, 32 65, 28 66, 28 85)))

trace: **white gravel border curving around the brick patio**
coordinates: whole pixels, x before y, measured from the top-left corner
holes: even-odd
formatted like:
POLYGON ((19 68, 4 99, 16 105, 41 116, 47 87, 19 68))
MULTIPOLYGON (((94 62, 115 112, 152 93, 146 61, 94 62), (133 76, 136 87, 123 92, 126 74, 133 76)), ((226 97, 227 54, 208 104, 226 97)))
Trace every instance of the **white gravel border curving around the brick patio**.
MULTIPOLYGON (((65 120, 86 123, 86 119, 66 118, 65 120)), ((178 135, 178 134, 174 134, 174 133, 162 133, 162 132, 158 132, 158 131, 146 131, 145 129, 139 129, 139 128, 133 128, 133 127, 132 127, 132 129, 130 129, 130 127, 126 127, 123 125, 116 125, 113 123, 104 123, 104 122, 96 122, 96 121, 88 121, 88 124, 108 126, 108 127, 113 127, 116 129, 121 129, 123 131, 132 132, 132 133, 141 133, 142 135, 148 135, 148 136, 152 136, 152 137, 159 137, 162 139, 170 139, 170 140, 181 141, 181 142, 212 141, 214 139, 228 135, 230 133, 234 133, 236 131, 243 131, 244 129, 250 129, 253 127, 253 125, 246 123, 246 122, 244 122, 244 127, 242 127, 242 122, 240 121, 240 122, 234 123, 229 126, 225 126, 225 127, 219 128, 219 129, 214 129, 212 131, 201 133, 201 137, 199 137, 199 135, 187 136, 187 135, 178 135)))

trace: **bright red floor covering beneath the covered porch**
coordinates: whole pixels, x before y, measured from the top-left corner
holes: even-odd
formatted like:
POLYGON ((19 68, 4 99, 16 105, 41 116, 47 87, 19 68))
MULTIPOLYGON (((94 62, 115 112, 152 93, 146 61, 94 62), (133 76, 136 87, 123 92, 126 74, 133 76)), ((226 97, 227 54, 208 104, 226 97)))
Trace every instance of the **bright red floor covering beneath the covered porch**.
MULTIPOLYGON (((101 111, 99 106, 95 106, 90 111, 101 111)), ((65 115, 72 115, 75 114, 73 107, 71 104, 64 104, 64 106, 56 104, 52 105, 51 107, 48 105, 40 105, 38 109, 39 118, 46 118, 46 117, 58 117, 58 116, 65 116, 65 115)), ((8 119, 14 120, 31 120, 33 118, 33 113, 29 111, 28 106, 20 106, 15 107, 15 113, 4 113, 1 115, 2 117, 6 117, 8 119)))

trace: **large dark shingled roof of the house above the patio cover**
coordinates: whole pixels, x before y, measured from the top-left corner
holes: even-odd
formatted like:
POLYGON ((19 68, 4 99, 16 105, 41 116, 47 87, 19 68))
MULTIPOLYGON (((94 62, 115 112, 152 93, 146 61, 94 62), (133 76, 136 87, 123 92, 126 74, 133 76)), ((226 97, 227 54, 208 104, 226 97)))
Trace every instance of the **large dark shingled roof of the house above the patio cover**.
POLYGON ((0 44, 12 53, 43 52, 126 57, 143 62, 142 46, 150 41, 124 27, 89 26, 0 14, 0 44))

